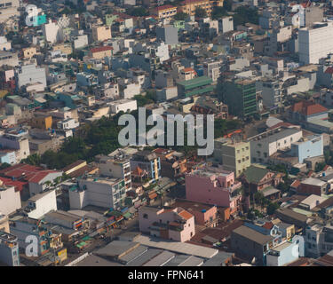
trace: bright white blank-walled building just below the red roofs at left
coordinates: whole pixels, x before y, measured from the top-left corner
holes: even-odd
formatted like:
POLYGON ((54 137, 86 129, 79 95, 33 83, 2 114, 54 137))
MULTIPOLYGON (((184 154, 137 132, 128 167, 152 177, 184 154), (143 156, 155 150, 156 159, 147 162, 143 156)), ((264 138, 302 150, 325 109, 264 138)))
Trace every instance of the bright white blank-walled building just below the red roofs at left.
POLYGON ((57 209, 56 191, 50 190, 31 197, 28 200, 28 206, 25 211, 28 212, 29 218, 39 219, 44 214, 57 209))

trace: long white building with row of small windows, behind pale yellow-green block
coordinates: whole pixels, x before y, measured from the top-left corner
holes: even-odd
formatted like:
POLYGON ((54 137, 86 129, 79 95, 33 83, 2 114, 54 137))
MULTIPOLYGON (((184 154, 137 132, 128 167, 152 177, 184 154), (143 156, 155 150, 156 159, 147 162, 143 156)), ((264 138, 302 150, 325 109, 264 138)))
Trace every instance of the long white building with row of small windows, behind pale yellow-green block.
POLYGON ((297 142, 302 136, 302 130, 289 128, 269 130, 249 138, 251 162, 268 162, 272 154, 278 150, 290 148, 291 144, 297 142))

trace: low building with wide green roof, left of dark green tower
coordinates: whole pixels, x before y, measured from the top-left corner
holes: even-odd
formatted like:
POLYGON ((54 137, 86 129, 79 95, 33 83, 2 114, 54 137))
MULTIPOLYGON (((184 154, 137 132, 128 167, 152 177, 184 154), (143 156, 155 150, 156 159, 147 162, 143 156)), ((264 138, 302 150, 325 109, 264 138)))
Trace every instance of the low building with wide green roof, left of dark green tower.
POLYGON ((211 84, 212 82, 210 77, 207 76, 200 76, 192 80, 178 82, 178 97, 188 98, 214 91, 215 86, 211 84))

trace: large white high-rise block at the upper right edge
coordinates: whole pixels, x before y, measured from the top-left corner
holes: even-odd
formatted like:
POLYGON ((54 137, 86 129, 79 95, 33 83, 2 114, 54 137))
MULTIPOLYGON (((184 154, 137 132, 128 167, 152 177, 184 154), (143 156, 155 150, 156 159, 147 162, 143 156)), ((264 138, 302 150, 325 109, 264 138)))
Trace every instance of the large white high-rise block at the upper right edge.
POLYGON ((333 52, 333 22, 321 22, 298 31, 299 61, 318 64, 333 52))

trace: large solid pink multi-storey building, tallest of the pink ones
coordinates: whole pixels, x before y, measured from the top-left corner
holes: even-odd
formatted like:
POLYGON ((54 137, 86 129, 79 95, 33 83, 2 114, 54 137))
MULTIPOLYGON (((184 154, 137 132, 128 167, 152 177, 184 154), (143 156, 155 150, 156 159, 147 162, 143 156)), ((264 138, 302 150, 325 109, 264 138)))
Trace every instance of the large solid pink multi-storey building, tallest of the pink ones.
POLYGON ((237 189, 242 183, 234 181, 233 171, 210 169, 186 175, 186 200, 230 208, 230 214, 234 214, 241 204, 242 195, 237 189))

